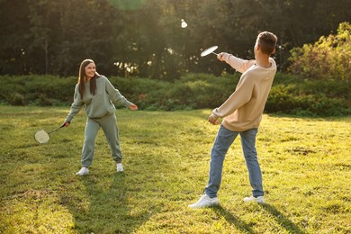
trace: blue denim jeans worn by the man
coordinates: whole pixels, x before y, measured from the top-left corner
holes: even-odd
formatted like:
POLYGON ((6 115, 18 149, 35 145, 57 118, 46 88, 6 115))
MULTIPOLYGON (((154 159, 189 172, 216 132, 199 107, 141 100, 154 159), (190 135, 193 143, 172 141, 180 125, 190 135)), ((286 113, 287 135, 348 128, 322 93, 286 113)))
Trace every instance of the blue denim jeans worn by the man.
POLYGON ((220 125, 213 147, 211 149, 211 164, 209 183, 205 188, 205 193, 211 198, 217 196, 220 190, 221 174, 224 158, 234 140, 240 135, 241 147, 244 152, 247 164, 248 177, 252 187, 252 195, 263 196, 262 173, 257 160, 255 148, 257 129, 245 131, 232 131, 220 125))

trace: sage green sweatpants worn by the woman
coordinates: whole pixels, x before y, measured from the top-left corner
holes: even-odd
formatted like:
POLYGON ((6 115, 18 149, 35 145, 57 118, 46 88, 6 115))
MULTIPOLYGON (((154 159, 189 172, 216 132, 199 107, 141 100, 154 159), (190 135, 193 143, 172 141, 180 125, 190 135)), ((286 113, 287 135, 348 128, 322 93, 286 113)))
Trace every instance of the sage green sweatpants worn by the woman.
POLYGON ((107 143, 110 146, 112 158, 121 163, 121 147, 118 134, 116 115, 112 113, 101 119, 87 118, 85 125, 85 141, 82 149, 82 166, 89 167, 93 163, 94 147, 97 132, 103 128, 107 143))

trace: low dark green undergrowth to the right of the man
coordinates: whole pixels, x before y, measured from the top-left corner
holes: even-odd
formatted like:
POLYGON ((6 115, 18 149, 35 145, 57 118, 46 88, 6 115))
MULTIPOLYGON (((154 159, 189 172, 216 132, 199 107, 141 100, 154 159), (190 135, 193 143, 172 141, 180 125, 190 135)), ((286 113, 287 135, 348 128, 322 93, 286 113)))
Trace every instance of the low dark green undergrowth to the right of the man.
POLYGON ((310 80, 277 74, 266 103, 266 112, 305 116, 351 114, 350 82, 310 80))

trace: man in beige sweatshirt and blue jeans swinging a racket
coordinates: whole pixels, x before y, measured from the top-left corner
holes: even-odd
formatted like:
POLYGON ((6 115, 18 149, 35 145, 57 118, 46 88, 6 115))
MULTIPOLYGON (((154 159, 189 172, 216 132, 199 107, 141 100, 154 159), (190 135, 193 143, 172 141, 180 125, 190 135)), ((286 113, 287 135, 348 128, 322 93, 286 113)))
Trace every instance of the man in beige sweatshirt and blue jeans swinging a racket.
POLYGON ((270 56, 275 52, 276 41, 277 37, 272 32, 259 33, 254 47, 255 60, 236 58, 224 52, 218 55, 220 61, 227 62, 242 75, 235 92, 209 116, 211 124, 219 124, 219 118, 224 119, 211 149, 209 182, 200 200, 189 207, 202 208, 220 203, 217 193, 220 189, 224 158, 238 135, 252 187, 252 195, 244 198, 244 202, 264 203, 262 173, 255 143, 257 128, 275 77, 275 60, 270 56))

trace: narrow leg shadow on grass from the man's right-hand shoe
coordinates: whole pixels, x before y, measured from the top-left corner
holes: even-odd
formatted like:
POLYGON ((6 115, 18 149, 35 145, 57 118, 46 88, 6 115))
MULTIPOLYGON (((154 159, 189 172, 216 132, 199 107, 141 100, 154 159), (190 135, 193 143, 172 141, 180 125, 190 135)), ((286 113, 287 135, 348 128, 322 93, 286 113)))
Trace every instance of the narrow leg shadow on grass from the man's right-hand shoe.
POLYGON ((271 204, 260 204, 260 206, 269 212, 275 220, 282 226, 282 228, 286 229, 290 233, 295 233, 295 234, 304 234, 307 233, 306 231, 300 229, 299 226, 297 226, 295 223, 293 223, 292 220, 289 220, 284 216, 284 214, 280 211, 278 211, 275 206, 271 204))

